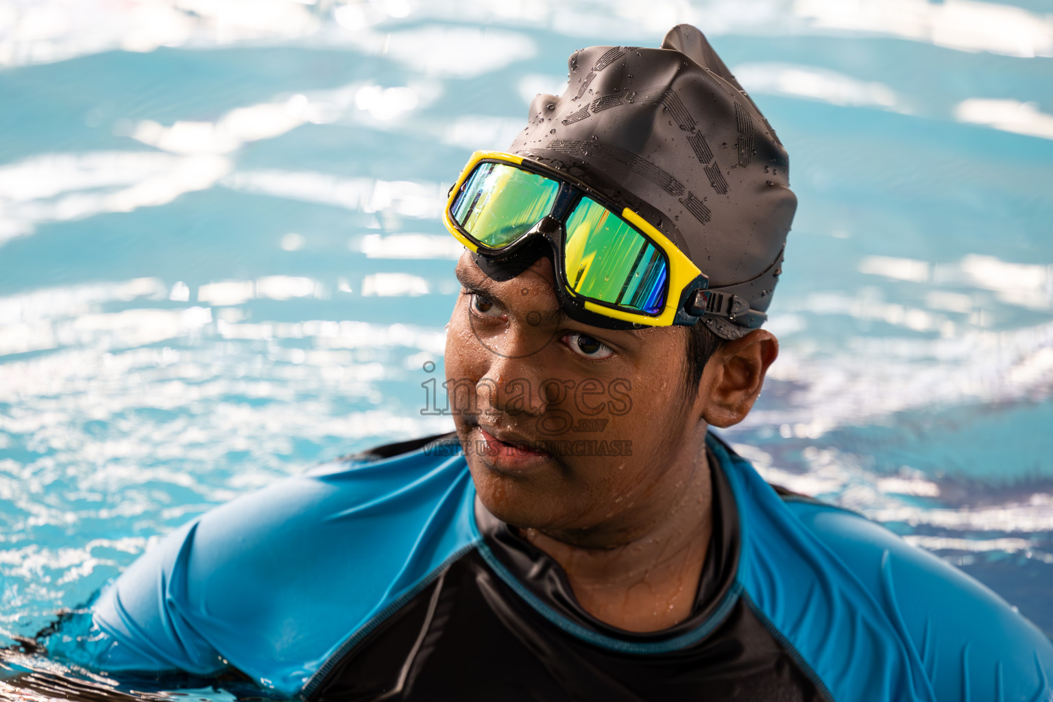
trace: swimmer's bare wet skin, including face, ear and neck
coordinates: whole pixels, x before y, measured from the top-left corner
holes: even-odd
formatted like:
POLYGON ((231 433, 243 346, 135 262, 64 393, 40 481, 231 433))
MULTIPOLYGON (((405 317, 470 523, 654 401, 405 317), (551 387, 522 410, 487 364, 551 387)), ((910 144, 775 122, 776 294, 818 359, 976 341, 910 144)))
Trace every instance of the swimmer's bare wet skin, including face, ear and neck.
POLYGON ((682 621, 712 534, 706 432, 753 407, 775 337, 726 343, 689 393, 687 329, 571 320, 548 258, 497 282, 465 254, 456 273, 446 379, 482 504, 552 556, 597 619, 630 631, 682 621))

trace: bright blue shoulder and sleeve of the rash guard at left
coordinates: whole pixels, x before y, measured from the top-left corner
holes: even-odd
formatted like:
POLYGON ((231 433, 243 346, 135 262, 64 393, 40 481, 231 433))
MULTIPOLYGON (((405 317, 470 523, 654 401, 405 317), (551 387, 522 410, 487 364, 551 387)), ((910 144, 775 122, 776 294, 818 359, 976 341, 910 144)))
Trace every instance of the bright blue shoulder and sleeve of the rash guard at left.
POLYGON ((113 650, 124 651, 99 667, 207 673, 229 662, 297 691, 339 644, 473 543, 474 490, 455 442, 371 449, 177 529, 94 606, 113 650))

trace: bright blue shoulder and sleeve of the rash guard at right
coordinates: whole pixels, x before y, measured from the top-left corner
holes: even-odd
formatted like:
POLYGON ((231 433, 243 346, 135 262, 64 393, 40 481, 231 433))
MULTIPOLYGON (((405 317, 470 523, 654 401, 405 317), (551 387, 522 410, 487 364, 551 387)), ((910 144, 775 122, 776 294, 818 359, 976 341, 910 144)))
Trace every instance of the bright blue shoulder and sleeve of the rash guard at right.
POLYGON ((767 484, 713 440, 735 487, 738 580, 835 699, 1053 699, 1053 644, 997 595, 856 513, 767 484))

